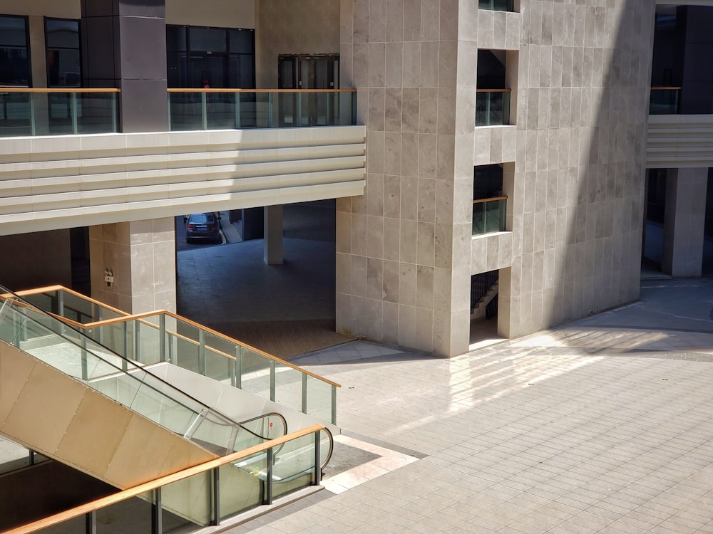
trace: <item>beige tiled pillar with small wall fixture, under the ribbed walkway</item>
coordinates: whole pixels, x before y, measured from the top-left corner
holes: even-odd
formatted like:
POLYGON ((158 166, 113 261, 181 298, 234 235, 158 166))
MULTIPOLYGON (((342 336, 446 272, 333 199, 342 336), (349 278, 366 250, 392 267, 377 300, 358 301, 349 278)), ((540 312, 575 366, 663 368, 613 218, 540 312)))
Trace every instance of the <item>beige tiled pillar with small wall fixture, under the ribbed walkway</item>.
POLYGON ((173 217, 91 226, 89 256, 93 298, 128 313, 175 312, 173 217))

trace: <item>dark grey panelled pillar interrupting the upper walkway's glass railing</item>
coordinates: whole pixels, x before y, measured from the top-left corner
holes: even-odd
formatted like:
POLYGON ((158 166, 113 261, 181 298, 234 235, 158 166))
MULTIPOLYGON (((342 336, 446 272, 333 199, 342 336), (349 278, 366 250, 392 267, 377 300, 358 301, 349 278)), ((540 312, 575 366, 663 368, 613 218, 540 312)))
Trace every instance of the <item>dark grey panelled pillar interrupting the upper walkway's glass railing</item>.
POLYGON ((165 0, 82 0, 84 87, 120 88, 122 132, 168 130, 165 0))

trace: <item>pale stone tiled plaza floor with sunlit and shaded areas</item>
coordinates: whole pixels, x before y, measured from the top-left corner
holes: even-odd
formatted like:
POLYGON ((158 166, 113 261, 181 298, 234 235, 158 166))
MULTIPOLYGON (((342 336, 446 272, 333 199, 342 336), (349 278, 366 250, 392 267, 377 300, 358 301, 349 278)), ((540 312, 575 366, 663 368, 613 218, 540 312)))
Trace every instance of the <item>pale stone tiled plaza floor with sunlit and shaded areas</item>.
POLYGON ((451 360, 365 342, 294 360, 342 384, 347 436, 410 459, 231 532, 713 533, 712 310, 711 281, 645 282, 451 360))

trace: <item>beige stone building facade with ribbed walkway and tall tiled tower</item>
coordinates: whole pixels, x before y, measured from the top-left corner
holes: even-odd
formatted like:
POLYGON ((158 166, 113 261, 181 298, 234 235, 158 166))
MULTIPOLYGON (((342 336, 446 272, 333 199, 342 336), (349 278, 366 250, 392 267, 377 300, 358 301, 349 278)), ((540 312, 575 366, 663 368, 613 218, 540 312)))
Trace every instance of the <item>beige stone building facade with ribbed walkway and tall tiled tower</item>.
MULTIPOLYGON (((713 7, 688 3, 699 5, 1 0, 7 95, 120 93, 111 131, 62 135, 39 125, 61 122, 58 103, 36 96, 13 115, 4 97, 0 246, 16 260, 0 283, 71 286, 85 265, 93 297, 172 310, 174 216, 265 209, 267 235, 279 240, 279 206, 337 199, 339 332, 452 356, 468 350, 488 292, 504 337, 632 302, 647 169, 682 169, 665 178, 662 266, 689 276, 695 268, 676 262, 702 263, 713 130, 711 110, 689 102, 707 82, 693 67, 668 73, 670 47, 658 37, 655 46, 655 34, 681 41, 665 33, 673 9, 690 41, 682 57, 704 56, 694 26, 713 7), (660 84, 684 94, 680 109, 654 117, 660 84), (354 120, 343 120, 347 100, 332 101, 331 122, 317 100, 300 101, 310 111, 299 116, 280 93, 261 100, 278 87, 354 89, 344 93, 355 94, 354 120), (216 119, 221 98, 242 105, 219 88, 255 90, 240 97, 252 115, 216 119), (260 113, 272 120, 276 103, 282 122, 265 127, 260 113), (37 125, 25 132, 30 107, 37 125), (688 125, 689 137, 671 135, 688 125)), ((92 107, 101 104, 82 109, 92 107)))

